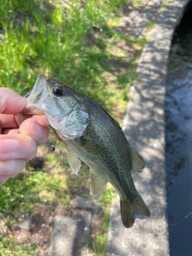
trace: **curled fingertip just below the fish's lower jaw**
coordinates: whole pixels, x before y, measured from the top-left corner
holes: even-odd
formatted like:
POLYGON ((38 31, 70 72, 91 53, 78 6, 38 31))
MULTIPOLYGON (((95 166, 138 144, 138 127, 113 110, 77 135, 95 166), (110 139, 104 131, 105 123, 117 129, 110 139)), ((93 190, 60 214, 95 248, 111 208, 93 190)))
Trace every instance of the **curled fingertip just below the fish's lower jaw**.
POLYGON ((28 118, 19 127, 20 134, 26 134, 35 139, 37 145, 42 145, 49 138, 49 130, 41 126, 34 118, 28 118))

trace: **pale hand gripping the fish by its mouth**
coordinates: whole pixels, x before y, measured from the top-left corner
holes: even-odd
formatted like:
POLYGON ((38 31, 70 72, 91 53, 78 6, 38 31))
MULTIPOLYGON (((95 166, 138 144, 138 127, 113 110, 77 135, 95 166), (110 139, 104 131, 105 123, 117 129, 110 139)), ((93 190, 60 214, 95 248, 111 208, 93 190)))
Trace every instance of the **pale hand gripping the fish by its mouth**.
POLYGON ((0 88, 0 185, 16 176, 48 140, 45 115, 22 114, 26 98, 0 88))

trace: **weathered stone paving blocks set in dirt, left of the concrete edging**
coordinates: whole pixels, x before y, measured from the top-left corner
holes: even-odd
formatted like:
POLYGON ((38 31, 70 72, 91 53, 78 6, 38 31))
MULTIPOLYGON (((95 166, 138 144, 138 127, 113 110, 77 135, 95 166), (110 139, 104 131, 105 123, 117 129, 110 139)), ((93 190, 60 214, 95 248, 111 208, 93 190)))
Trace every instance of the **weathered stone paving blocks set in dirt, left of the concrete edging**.
POLYGON ((75 196, 74 218, 57 215, 48 256, 86 256, 94 202, 75 196), (91 213, 92 212, 92 213, 91 213))

